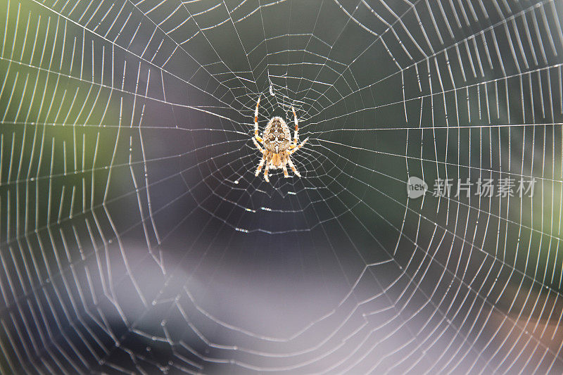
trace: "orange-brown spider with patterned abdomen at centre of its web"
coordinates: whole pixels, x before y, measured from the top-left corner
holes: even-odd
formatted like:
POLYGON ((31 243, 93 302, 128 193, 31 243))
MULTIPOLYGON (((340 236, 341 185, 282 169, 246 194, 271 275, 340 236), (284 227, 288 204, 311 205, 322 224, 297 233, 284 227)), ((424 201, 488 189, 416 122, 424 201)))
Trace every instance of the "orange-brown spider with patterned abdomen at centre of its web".
POLYGON ((301 174, 297 172, 295 165, 289 158, 289 155, 296 152, 299 148, 303 147, 305 142, 309 139, 306 138, 301 144, 297 144, 298 141, 298 121, 297 115, 295 114, 295 109, 291 107, 293 111, 293 118, 295 122, 295 132, 293 132, 293 141, 291 141, 291 132, 289 127, 287 127, 286 122, 281 117, 272 117, 266 128, 264 129, 263 139, 258 136, 258 106, 260 106, 260 96, 258 96, 258 102, 256 103, 256 110, 254 113, 254 136, 252 138, 254 145, 262 153, 262 160, 258 164, 255 176, 258 176, 262 167, 264 167, 264 179, 266 182, 270 182, 268 178, 268 170, 277 170, 279 168, 284 170, 284 176, 287 178, 289 174, 287 172, 286 164, 289 164, 291 170, 297 177, 301 177, 301 174), (260 147, 261 144, 264 148, 260 147))

